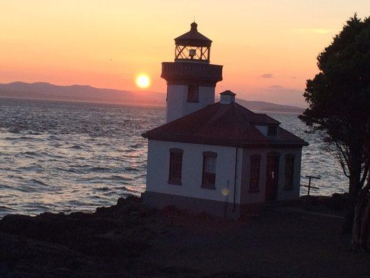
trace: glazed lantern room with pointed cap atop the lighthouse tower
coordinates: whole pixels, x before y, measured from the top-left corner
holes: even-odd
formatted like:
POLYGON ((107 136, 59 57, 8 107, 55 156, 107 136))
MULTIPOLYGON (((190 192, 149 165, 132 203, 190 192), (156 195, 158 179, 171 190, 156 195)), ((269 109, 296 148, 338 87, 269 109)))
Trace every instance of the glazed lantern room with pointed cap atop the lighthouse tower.
POLYGON ((198 24, 190 24, 190 31, 175 39, 175 62, 210 63, 212 40, 198 32, 198 24))

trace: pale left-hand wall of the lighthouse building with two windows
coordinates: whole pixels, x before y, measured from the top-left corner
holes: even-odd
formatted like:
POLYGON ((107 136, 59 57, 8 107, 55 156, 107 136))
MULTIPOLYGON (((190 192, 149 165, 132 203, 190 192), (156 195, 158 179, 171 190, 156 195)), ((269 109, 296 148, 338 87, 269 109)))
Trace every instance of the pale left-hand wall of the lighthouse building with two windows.
MULTIPOLYGON (((197 145, 182 142, 167 142, 149 140, 148 166, 146 175, 146 190, 157 193, 167 193, 185 197, 212 199, 215 201, 233 203, 235 147, 212 145, 197 145), (183 173, 180 186, 168 184, 169 178, 169 149, 183 149, 183 173), (216 152, 216 186, 215 190, 201 188, 203 152, 216 152), (227 192, 228 195, 224 195, 227 192)), ((235 203, 240 202, 240 181, 242 171, 242 148, 238 149, 237 182, 235 203)))

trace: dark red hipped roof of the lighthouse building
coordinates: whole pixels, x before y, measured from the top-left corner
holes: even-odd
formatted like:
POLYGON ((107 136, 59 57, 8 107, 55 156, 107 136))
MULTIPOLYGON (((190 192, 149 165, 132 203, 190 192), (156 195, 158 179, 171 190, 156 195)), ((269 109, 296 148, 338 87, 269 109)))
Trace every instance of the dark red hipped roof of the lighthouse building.
POLYGON ((266 114, 236 104, 209 105, 178 120, 142 134, 144 138, 174 142, 233 147, 305 146, 308 142, 278 126, 280 122, 266 114), (277 136, 264 136, 255 125, 278 126, 277 136))

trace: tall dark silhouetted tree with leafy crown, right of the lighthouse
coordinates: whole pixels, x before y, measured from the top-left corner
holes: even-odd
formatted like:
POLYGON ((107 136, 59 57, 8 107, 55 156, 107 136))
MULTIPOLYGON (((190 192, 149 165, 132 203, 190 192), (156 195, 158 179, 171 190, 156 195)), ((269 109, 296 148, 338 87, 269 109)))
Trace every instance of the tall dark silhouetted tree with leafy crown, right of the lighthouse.
POLYGON ((344 231, 351 231, 355 205, 369 172, 365 147, 370 111, 370 18, 354 15, 317 57, 319 73, 307 81, 309 104, 298 117, 323 137, 348 177, 344 231))

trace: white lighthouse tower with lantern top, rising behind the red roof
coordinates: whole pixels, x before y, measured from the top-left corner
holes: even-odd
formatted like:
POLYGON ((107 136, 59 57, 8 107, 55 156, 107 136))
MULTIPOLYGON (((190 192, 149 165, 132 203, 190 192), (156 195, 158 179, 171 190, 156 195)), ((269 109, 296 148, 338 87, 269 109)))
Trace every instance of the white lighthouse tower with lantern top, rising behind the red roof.
POLYGON ((197 24, 175 39, 175 61, 162 63, 167 81, 167 122, 215 103, 215 87, 222 66, 210 64, 212 40, 198 32, 197 24))

